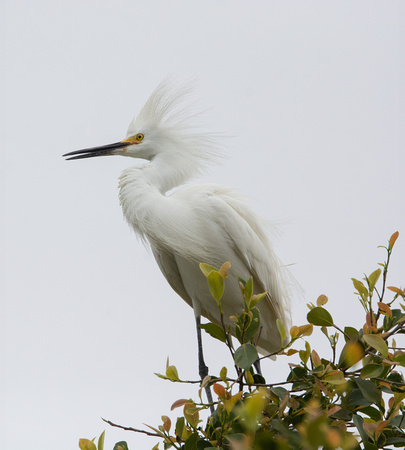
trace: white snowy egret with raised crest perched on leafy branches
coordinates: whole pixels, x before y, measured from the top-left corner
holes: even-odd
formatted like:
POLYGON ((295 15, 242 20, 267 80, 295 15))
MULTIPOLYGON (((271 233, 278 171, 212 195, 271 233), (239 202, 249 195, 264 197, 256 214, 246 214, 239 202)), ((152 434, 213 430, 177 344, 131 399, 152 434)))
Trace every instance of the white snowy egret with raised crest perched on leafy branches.
POLYGON ((252 276, 255 293, 268 292, 258 303, 262 325, 258 347, 263 354, 282 344, 276 319, 285 326, 289 323, 288 275, 268 238, 268 224, 233 190, 200 184, 168 193, 199 174, 218 152, 216 135, 196 127, 191 91, 190 84, 163 81, 130 123, 124 140, 63 156, 122 155, 148 161, 123 171, 120 202, 129 225, 149 242, 170 286, 194 309, 203 379, 208 368, 198 325, 201 316, 220 324, 220 314, 199 263, 232 264, 222 298, 226 325, 232 325, 229 317, 243 309, 238 276, 245 280, 252 276))

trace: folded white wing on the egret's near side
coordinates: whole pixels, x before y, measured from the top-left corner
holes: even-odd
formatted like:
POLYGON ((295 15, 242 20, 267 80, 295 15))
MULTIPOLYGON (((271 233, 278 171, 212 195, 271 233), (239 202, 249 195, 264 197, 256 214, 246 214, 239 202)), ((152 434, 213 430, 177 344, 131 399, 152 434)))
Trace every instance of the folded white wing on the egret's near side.
MULTIPOLYGON (((213 259, 199 262, 218 265, 225 262, 224 258, 231 258, 233 272, 241 277, 251 275, 256 292, 268 291, 269 295, 263 301, 268 304, 273 318, 278 317, 287 324, 288 271, 269 241, 269 224, 230 188, 187 186, 180 189, 176 197, 182 197, 183 201, 187 199, 189 208, 194 208, 198 216, 199 229, 209 230, 204 240, 213 259)), ((202 236, 198 238, 203 242, 202 236)))

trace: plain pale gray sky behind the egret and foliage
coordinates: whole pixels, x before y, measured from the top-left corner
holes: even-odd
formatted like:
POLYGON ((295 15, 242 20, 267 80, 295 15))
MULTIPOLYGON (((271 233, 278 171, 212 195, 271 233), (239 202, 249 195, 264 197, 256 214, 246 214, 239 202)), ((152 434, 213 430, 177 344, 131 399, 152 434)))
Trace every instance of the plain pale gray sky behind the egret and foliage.
MULTIPOLYGON (((337 323, 361 326, 350 277, 377 267, 396 230, 389 284, 403 285, 404 9, 3 2, 1 448, 77 448, 105 428, 106 448, 151 448, 100 417, 157 425, 175 400, 196 397, 153 375, 170 356, 197 378, 194 320, 122 219, 117 178, 132 161, 61 157, 125 137, 168 73, 197 75, 207 127, 232 136, 201 182, 235 187, 280 224, 278 254, 304 290, 295 324, 324 293, 337 323)), ((228 356, 205 344, 215 373, 228 356)), ((264 370, 281 381, 286 360, 264 370)))

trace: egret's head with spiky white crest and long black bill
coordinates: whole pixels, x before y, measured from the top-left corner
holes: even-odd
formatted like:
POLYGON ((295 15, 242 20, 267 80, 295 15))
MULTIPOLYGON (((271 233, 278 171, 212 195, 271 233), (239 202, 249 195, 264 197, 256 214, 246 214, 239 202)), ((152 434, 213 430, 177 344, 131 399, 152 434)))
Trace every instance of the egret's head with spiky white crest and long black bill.
POLYGON ((198 113, 190 101, 192 92, 192 83, 179 84, 169 77, 158 85, 130 123, 125 139, 63 156, 70 160, 121 155, 149 161, 159 156, 179 166, 183 161, 198 172, 204 162, 215 159, 218 139, 196 127, 198 113))

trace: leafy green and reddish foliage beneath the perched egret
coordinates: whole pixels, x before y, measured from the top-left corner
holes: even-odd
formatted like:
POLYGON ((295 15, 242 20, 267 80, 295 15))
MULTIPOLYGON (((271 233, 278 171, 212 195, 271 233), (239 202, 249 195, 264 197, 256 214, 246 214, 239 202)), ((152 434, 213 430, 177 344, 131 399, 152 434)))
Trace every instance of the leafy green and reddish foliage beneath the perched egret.
MULTIPOLYGON (((405 383, 401 370, 405 366, 405 348, 397 347, 395 338, 405 333, 405 305, 401 303, 405 292, 386 286, 397 238, 398 233, 394 233, 387 247, 383 247, 387 257, 381 268, 362 281, 352 279, 365 311, 364 324, 359 329, 348 326, 342 329, 335 324, 325 307, 328 302, 325 295, 318 297, 316 304, 308 305, 308 323, 291 327, 287 343, 287 332, 277 321, 285 344, 276 354, 299 357, 299 364, 289 364, 287 380, 277 384, 266 384, 264 377, 254 372, 259 357, 255 343, 260 334, 256 305, 265 293, 253 295, 252 279, 240 280, 245 306, 241 314, 232 317, 238 342, 235 345, 229 327, 224 325, 221 309, 230 264, 225 263, 219 270, 202 264, 201 270, 221 313, 222 326, 209 323, 201 327, 227 345, 236 373, 232 377, 223 367, 218 376, 207 376, 201 383, 198 401, 180 399, 173 403, 172 410, 183 411, 176 423, 162 416, 162 425, 150 427, 154 433, 147 434, 161 437, 164 449, 404 448, 405 383), (305 339, 314 327, 325 335, 332 357, 321 357, 305 339), (338 346, 339 341, 342 345, 338 346), (200 412, 210 407, 201 395, 206 386, 212 387, 217 401, 214 414, 204 424, 200 412)), ((268 356, 271 355, 264 357, 268 356)), ((166 374, 159 376, 184 382, 169 361, 166 374)), ((99 442, 98 450, 103 450, 102 444, 99 442)), ((95 444, 87 440, 81 440, 79 446, 82 450, 96 450, 95 444)), ((126 443, 120 442, 114 449, 119 446, 127 448, 126 443)), ((157 448, 158 444, 154 449, 157 448)))

